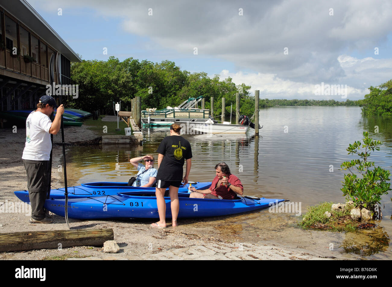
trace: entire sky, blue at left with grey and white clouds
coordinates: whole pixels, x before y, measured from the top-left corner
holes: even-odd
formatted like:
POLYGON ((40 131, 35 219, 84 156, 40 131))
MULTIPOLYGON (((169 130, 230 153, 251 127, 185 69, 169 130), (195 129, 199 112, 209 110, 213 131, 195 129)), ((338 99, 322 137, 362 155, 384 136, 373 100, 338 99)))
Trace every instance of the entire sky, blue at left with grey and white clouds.
POLYGON ((84 60, 171 60, 269 99, 345 100, 321 83, 362 99, 392 79, 389 0, 27 1, 84 60))

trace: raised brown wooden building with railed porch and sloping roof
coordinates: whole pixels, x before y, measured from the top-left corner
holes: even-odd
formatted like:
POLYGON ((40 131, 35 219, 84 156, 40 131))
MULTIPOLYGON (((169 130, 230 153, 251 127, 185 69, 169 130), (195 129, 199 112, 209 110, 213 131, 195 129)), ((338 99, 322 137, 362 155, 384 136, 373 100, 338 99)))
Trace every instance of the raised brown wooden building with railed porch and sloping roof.
POLYGON ((0 0, 0 14, 0 111, 35 108, 82 60, 25 0, 0 0))

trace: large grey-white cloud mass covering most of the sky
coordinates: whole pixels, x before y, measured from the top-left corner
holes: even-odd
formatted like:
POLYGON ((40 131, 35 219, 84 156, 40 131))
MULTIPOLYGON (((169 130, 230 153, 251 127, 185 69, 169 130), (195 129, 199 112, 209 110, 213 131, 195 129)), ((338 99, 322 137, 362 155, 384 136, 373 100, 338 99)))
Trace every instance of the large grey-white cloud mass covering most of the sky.
POLYGON ((379 85, 392 78, 391 59, 347 55, 373 52, 388 41, 392 2, 387 0, 29 2, 47 11, 87 7, 103 17, 123 19, 125 32, 148 38, 157 50, 177 51, 179 57, 193 57, 193 47, 198 47, 200 57, 237 67, 234 73, 222 71, 222 78, 230 74, 234 82, 264 90, 271 98, 305 97, 321 82, 347 84, 350 94, 359 98, 366 92, 364 83, 379 85), (288 54, 283 53, 285 47, 288 54))

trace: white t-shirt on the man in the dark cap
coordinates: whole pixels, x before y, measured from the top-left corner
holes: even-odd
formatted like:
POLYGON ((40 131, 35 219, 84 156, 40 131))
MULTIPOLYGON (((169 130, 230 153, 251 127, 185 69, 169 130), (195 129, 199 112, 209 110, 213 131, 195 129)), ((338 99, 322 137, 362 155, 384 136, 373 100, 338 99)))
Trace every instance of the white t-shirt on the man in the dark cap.
POLYGON ((32 112, 26 119, 26 145, 22 159, 49 161, 52 142, 49 129, 50 118, 42 112, 32 112))

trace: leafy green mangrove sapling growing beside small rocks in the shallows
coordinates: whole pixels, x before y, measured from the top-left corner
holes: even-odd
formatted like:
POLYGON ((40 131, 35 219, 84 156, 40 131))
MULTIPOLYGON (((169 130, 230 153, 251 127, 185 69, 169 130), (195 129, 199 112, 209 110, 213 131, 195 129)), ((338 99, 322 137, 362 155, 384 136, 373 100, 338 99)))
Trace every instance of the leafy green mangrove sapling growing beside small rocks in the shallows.
POLYGON ((357 154, 361 159, 345 161, 341 164, 342 170, 349 170, 349 174, 344 175, 343 196, 351 199, 356 206, 364 207, 373 213, 373 217, 381 218, 379 204, 381 195, 388 194, 390 189, 390 171, 379 166, 374 167, 374 162, 368 161, 370 150, 380 150, 381 141, 373 141, 368 137, 368 132, 363 132, 363 144, 356 141, 346 149, 348 154, 357 154), (362 150, 361 150, 362 148, 362 150), (365 148, 365 152, 363 152, 365 148), (373 169, 371 169, 374 167, 373 169), (354 173, 355 172, 355 173, 354 173), (358 177, 357 177, 358 175, 358 177))

